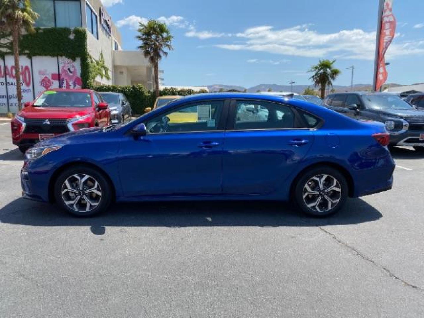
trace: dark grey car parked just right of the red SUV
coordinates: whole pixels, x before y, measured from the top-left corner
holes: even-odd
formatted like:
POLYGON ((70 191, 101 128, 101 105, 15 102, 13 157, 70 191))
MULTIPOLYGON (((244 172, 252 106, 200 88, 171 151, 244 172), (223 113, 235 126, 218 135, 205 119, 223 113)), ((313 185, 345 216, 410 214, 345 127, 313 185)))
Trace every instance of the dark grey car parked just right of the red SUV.
POLYGON ((124 94, 115 92, 101 92, 99 94, 109 105, 112 124, 121 124, 131 120, 131 104, 124 94))

